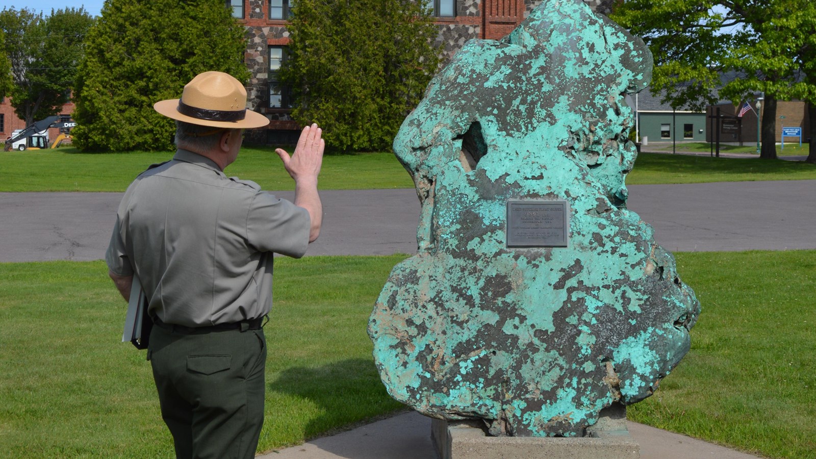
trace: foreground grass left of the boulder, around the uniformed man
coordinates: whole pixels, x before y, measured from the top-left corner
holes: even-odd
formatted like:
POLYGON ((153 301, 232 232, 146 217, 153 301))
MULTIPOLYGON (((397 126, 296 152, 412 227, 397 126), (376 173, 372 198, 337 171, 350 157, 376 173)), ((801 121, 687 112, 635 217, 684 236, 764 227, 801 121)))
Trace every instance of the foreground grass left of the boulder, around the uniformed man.
MULTIPOLYGON (((401 409, 366 322, 404 256, 282 258, 260 448, 401 409)), ((172 457, 145 351, 103 261, 0 264, 0 457, 172 457)))

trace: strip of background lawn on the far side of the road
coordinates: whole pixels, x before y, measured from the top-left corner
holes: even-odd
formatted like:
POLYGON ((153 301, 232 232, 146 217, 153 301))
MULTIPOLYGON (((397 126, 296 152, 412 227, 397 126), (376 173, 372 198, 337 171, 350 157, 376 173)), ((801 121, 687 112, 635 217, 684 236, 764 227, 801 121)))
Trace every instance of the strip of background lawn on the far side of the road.
MULTIPOLYGON (((787 152, 787 148, 786 148, 787 152)), ((169 152, 82 154, 73 147, 0 152, 2 191, 124 191, 150 164, 172 157, 169 152)), ((294 184, 272 148, 246 148, 225 171, 255 180, 264 189, 290 190, 294 184)), ((640 154, 630 185, 699 183, 737 180, 816 179, 816 165, 759 158, 710 158, 682 154, 640 154)), ((413 188, 410 176, 393 154, 326 156, 321 189, 413 188)))

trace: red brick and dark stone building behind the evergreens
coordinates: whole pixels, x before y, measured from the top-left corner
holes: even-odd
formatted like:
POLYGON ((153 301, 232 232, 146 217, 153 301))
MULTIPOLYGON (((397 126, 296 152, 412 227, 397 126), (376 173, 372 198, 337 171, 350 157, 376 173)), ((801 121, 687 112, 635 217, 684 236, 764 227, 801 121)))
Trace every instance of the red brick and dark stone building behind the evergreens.
MULTIPOLYGON (((541 0, 423 0, 436 16, 446 60, 472 38, 499 39, 515 29, 541 0)), ((595 11, 609 12, 617 0, 584 0, 595 11)), ((289 33, 286 19, 293 0, 227 0, 233 16, 246 27, 246 65, 251 72, 247 93, 252 109, 271 123, 266 131, 248 132, 251 141, 295 143, 299 127, 291 120, 286 91, 276 84, 277 69, 286 59, 289 33)))

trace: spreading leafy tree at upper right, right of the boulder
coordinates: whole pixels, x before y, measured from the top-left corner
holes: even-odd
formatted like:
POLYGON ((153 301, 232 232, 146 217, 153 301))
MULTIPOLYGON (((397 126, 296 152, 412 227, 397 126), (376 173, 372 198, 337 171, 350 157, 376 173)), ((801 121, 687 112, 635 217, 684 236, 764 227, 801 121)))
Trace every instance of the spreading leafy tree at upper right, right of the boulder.
POLYGON ((776 158, 777 100, 810 100, 814 92, 802 79, 813 9, 810 0, 626 0, 612 18, 649 44, 652 91, 666 91, 672 107, 738 104, 764 92, 761 158, 776 158), (726 73, 737 78, 717 95, 726 73))

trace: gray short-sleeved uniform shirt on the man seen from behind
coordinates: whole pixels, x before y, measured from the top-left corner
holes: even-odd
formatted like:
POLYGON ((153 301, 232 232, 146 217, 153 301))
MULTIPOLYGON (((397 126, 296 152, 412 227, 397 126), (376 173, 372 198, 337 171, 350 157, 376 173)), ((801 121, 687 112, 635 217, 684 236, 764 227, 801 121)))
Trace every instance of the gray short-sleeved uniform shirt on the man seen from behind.
POLYGON ((303 207, 179 149, 127 188, 105 261, 139 277, 165 323, 234 323, 269 312, 273 252, 303 256, 309 224, 303 207))

